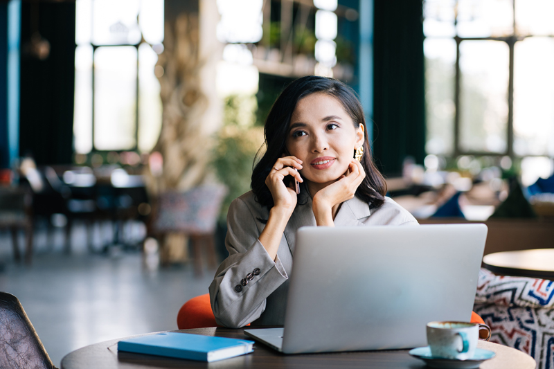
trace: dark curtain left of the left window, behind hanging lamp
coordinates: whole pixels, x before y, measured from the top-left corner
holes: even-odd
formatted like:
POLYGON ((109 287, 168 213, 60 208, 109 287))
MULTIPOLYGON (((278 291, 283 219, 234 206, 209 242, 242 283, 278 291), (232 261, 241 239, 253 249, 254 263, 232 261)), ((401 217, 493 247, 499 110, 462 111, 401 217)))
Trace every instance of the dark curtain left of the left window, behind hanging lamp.
POLYGON ((19 153, 39 165, 69 164, 73 154, 75 90, 75 3, 39 5, 39 32, 50 42, 50 55, 39 60, 26 53, 32 3, 21 4, 21 105, 19 153))

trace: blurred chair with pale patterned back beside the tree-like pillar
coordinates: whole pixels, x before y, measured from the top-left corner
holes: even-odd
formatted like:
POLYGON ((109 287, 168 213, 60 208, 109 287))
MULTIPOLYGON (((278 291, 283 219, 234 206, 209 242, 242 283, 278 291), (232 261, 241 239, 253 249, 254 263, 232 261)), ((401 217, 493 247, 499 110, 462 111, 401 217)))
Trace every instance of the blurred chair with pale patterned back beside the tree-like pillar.
POLYGON ((202 244, 208 253, 208 263, 217 266, 214 233, 226 192, 224 186, 200 186, 186 192, 164 192, 155 199, 149 233, 160 240, 162 264, 169 261, 163 237, 168 233, 184 233, 193 246, 195 272, 202 274, 202 244))

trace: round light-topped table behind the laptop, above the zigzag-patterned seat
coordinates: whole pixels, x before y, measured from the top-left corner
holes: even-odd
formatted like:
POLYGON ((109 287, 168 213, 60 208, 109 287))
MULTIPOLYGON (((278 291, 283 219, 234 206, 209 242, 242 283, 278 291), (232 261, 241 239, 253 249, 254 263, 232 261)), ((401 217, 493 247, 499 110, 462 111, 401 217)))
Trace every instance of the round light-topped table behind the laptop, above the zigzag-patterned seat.
POLYGON ((554 249, 490 253, 483 257, 485 268, 505 276, 554 280, 554 249))

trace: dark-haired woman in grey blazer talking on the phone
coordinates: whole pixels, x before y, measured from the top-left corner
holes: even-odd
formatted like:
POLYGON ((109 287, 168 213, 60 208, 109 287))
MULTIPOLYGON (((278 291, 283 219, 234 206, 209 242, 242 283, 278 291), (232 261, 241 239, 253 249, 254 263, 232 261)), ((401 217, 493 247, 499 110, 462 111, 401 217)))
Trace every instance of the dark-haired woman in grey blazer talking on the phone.
POLYGON ((215 320, 226 327, 285 323, 288 273, 301 226, 418 224, 385 197, 386 183, 366 141, 364 111, 346 84, 316 76, 289 84, 267 116, 265 146, 252 190, 229 208, 229 258, 210 286, 215 320))

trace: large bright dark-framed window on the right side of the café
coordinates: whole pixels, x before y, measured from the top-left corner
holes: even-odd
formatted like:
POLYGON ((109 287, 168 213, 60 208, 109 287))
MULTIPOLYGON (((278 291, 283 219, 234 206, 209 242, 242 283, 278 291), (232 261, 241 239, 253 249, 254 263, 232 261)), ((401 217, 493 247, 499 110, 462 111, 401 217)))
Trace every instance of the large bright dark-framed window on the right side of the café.
POLYGON ((554 1, 425 0, 428 154, 554 156, 554 1))

